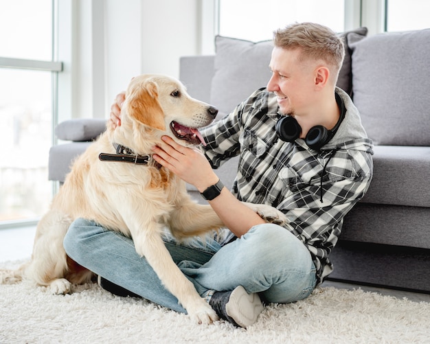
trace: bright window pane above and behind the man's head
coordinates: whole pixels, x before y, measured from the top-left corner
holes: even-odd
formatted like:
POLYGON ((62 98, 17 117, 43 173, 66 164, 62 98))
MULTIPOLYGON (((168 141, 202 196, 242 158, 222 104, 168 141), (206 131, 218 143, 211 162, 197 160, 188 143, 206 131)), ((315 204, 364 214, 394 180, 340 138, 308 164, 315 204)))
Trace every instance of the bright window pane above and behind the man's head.
POLYGON ((344 0, 220 0, 220 35, 250 41, 272 38, 288 24, 313 21, 343 32, 344 0))

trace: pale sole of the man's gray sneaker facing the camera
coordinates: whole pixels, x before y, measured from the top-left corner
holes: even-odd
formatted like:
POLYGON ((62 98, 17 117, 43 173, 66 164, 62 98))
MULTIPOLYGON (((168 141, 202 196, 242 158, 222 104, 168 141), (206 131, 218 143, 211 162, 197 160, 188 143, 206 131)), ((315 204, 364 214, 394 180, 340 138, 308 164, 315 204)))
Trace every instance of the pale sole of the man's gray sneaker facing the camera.
POLYGON ((225 305, 227 315, 242 328, 255 323, 263 309, 264 306, 258 294, 248 294, 242 286, 238 286, 231 292, 229 301, 225 305))

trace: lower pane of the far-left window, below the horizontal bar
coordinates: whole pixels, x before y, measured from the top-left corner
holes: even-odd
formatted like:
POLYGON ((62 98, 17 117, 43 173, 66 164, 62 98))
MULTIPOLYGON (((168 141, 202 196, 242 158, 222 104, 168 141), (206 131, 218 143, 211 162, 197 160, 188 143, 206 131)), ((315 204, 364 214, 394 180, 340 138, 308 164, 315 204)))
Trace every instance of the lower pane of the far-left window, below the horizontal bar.
POLYGON ((52 145, 51 72, 0 68, 0 221, 47 211, 52 145))

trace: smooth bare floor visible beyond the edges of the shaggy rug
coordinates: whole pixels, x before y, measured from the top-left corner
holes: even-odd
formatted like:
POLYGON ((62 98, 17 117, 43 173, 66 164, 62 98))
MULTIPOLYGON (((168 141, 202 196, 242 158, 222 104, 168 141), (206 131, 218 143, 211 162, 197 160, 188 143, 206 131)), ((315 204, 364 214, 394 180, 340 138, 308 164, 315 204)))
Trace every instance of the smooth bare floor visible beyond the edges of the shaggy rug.
MULTIPOLYGON (((36 227, 23 227, 13 229, 0 229, 0 262, 23 260, 30 258, 36 227)), ((430 302, 429 294, 410 293, 403 290, 385 289, 371 286, 358 286, 356 284, 346 284, 340 282, 326 281, 322 286, 334 286, 335 288, 357 289, 372 291, 382 295, 389 295, 403 299, 406 297, 411 301, 430 302)))

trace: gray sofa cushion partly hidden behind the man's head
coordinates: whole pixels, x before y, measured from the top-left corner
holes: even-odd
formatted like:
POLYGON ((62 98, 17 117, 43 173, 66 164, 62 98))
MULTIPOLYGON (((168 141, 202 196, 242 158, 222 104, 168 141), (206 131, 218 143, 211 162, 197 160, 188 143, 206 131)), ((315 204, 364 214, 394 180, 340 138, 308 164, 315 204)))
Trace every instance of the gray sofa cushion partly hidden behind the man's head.
MULTIPOLYGON (((339 71, 337 86, 352 91, 350 44, 364 38, 367 28, 339 34, 345 43, 345 59, 339 71)), ((216 36, 216 56, 210 103, 223 115, 232 111, 253 91, 265 87, 271 77, 269 63, 273 41, 251 42, 237 38, 216 36)))

